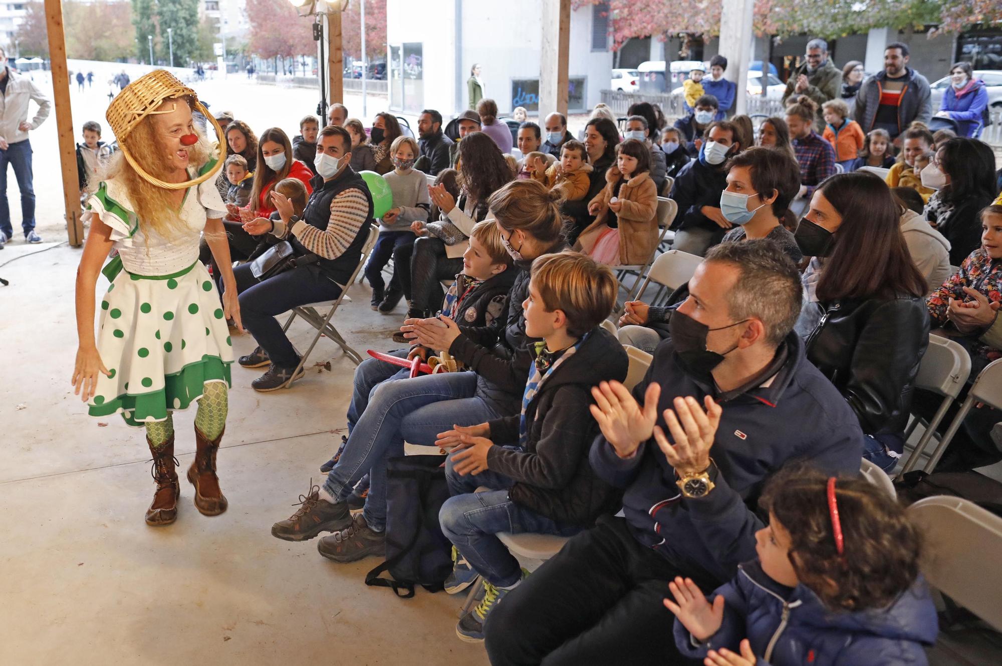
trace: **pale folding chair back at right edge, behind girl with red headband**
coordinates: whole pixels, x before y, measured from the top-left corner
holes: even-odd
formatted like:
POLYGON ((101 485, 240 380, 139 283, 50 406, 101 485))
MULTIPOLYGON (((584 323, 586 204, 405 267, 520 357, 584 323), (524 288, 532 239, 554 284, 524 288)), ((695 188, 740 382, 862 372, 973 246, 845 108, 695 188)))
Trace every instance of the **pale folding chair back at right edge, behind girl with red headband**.
POLYGON ((921 499, 906 510, 922 529, 929 583, 1002 631, 1002 517, 960 497, 921 499), (992 573, 995 572, 995 573, 992 573))

